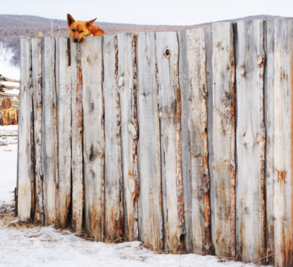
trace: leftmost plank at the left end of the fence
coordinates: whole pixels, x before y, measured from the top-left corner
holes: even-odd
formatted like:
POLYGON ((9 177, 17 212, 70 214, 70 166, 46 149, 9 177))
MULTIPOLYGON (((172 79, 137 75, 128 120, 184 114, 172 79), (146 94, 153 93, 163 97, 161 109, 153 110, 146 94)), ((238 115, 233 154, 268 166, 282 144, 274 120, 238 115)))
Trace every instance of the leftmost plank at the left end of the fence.
POLYGON ((34 158, 31 94, 31 41, 21 38, 21 89, 18 132, 18 217, 30 222, 34 210, 34 158))

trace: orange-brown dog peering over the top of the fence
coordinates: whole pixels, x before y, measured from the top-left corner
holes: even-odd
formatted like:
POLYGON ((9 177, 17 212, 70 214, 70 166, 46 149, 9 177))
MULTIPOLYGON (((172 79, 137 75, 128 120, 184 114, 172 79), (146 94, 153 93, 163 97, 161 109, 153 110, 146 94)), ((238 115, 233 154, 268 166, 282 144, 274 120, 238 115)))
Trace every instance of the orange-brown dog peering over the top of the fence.
POLYGON ((96 19, 92 21, 75 21, 70 14, 67 14, 68 34, 71 40, 81 42, 84 36, 87 35, 104 35, 104 31, 93 24, 96 19))

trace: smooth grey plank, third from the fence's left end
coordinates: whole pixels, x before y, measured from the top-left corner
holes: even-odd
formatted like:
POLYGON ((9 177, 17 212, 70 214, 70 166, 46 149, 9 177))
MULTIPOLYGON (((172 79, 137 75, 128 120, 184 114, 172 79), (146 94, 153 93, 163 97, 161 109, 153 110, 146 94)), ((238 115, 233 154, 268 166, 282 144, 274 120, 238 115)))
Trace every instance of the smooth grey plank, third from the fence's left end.
POLYGON ((57 99, 55 86, 55 39, 42 39, 42 166, 45 225, 57 222, 58 181, 57 99))

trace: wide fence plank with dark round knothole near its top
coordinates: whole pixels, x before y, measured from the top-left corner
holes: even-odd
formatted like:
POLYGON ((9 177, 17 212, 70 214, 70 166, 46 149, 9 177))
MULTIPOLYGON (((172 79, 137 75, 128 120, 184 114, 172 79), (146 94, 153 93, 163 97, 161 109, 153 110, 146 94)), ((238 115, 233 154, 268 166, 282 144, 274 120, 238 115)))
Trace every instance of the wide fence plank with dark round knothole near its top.
POLYGON ((178 54, 176 32, 156 33, 164 247, 171 253, 181 249, 184 234, 178 54))

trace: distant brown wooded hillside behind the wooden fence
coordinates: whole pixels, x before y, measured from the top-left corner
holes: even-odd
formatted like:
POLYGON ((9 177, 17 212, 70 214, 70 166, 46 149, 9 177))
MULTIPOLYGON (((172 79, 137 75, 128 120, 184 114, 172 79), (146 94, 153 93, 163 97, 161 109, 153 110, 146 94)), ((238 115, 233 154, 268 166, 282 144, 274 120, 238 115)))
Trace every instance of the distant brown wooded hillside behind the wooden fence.
MULTIPOLYGON (((268 20, 272 18, 280 18, 279 16, 250 16, 240 19, 227 20, 232 23, 238 20, 268 20)), ((51 20, 38 16, 26 15, 0 15, 0 42, 5 46, 12 48, 14 57, 12 63, 20 66, 20 37, 30 36, 31 32, 42 31, 43 36, 51 35, 51 21, 53 22, 53 35, 57 36, 58 27, 60 36, 67 36, 67 22, 65 20, 51 20)), ((211 22, 189 26, 168 26, 168 25, 136 25, 123 23, 95 22, 101 26, 105 34, 114 34, 121 32, 141 32, 141 31, 175 31, 180 29, 191 29, 197 27, 209 27, 211 22)))

